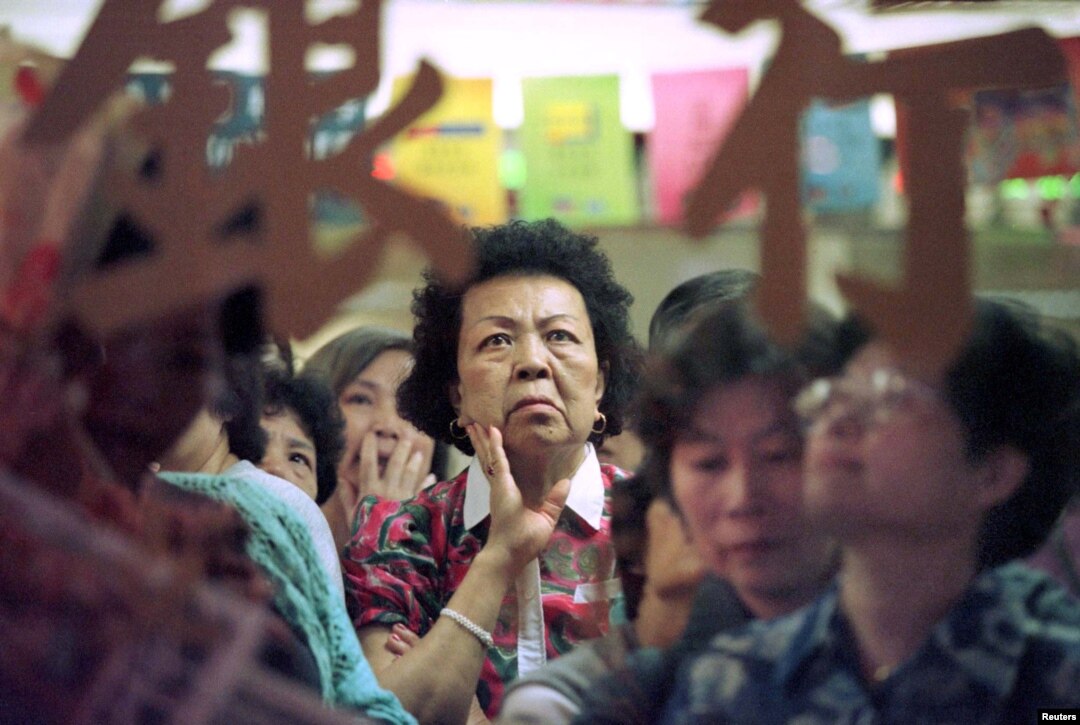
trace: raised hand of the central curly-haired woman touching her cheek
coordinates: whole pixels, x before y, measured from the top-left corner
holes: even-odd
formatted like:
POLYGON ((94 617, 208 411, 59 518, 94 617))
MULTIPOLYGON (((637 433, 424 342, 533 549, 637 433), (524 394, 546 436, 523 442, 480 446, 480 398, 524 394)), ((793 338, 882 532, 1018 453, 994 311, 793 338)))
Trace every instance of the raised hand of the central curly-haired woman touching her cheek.
POLYGON ((510 471, 499 429, 472 422, 465 430, 491 484, 491 528, 484 548, 504 548, 519 568, 548 545, 570 493, 570 480, 557 481, 543 500, 527 502, 510 471))

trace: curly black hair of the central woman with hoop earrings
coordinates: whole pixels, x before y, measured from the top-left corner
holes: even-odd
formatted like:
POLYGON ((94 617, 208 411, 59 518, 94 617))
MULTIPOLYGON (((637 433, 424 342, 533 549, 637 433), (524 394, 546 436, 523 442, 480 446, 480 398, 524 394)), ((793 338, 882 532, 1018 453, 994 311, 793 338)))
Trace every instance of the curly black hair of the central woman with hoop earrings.
POLYGON ((413 295, 416 365, 397 389, 402 416, 436 441, 451 443, 472 455, 468 438, 450 435, 450 421, 457 418, 449 389, 458 381, 461 300, 471 286, 494 278, 550 274, 566 280, 581 293, 605 375, 599 410, 607 417, 607 426, 589 440, 598 445, 607 435, 620 433, 625 408, 637 387, 642 352, 630 332, 633 295, 616 282, 611 263, 597 249, 597 239, 575 233, 554 219, 473 228, 472 238, 475 265, 463 286, 444 286, 429 270, 424 273, 426 285, 413 295))

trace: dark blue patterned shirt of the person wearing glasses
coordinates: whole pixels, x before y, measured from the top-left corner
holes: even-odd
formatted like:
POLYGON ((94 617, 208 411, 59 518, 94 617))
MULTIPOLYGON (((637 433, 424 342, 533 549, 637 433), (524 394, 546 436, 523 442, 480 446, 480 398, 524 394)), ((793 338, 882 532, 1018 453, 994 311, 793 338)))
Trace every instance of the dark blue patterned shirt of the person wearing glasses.
POLYGON ((810 606, 717 635, 677 676, 664 723, 1039 722, 1080 708, 1080 602, 1045 574, 980 575, 882 681, 860 674, 832 589, 810 606))

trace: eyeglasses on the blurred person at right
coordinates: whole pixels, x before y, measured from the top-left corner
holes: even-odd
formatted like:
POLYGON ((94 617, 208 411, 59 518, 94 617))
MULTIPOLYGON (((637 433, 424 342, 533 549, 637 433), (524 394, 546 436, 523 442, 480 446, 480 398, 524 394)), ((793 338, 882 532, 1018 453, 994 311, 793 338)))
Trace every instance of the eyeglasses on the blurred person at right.
POLYGON ((818 378, 798 392, 792 407, 807 426, 838 413, 883 425, 897 413, 940 400, 937 391, 926 382, 879 368, 869 377, 818 378))

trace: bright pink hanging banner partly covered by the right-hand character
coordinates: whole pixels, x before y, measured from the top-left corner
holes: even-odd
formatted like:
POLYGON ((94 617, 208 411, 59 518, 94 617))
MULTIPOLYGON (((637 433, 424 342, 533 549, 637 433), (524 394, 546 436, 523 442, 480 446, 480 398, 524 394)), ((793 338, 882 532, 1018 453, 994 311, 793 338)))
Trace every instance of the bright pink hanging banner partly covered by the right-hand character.
MULTIPOLYGON (((683 198, 700 180, 705 164, 734 123, 750 89, 745 68, 657 73, 652 77, 656 126, 649 135, 656 218, 676 224, 683 217, 683 198)), ((731 217, 756 205, 744 194, 731 217)))

